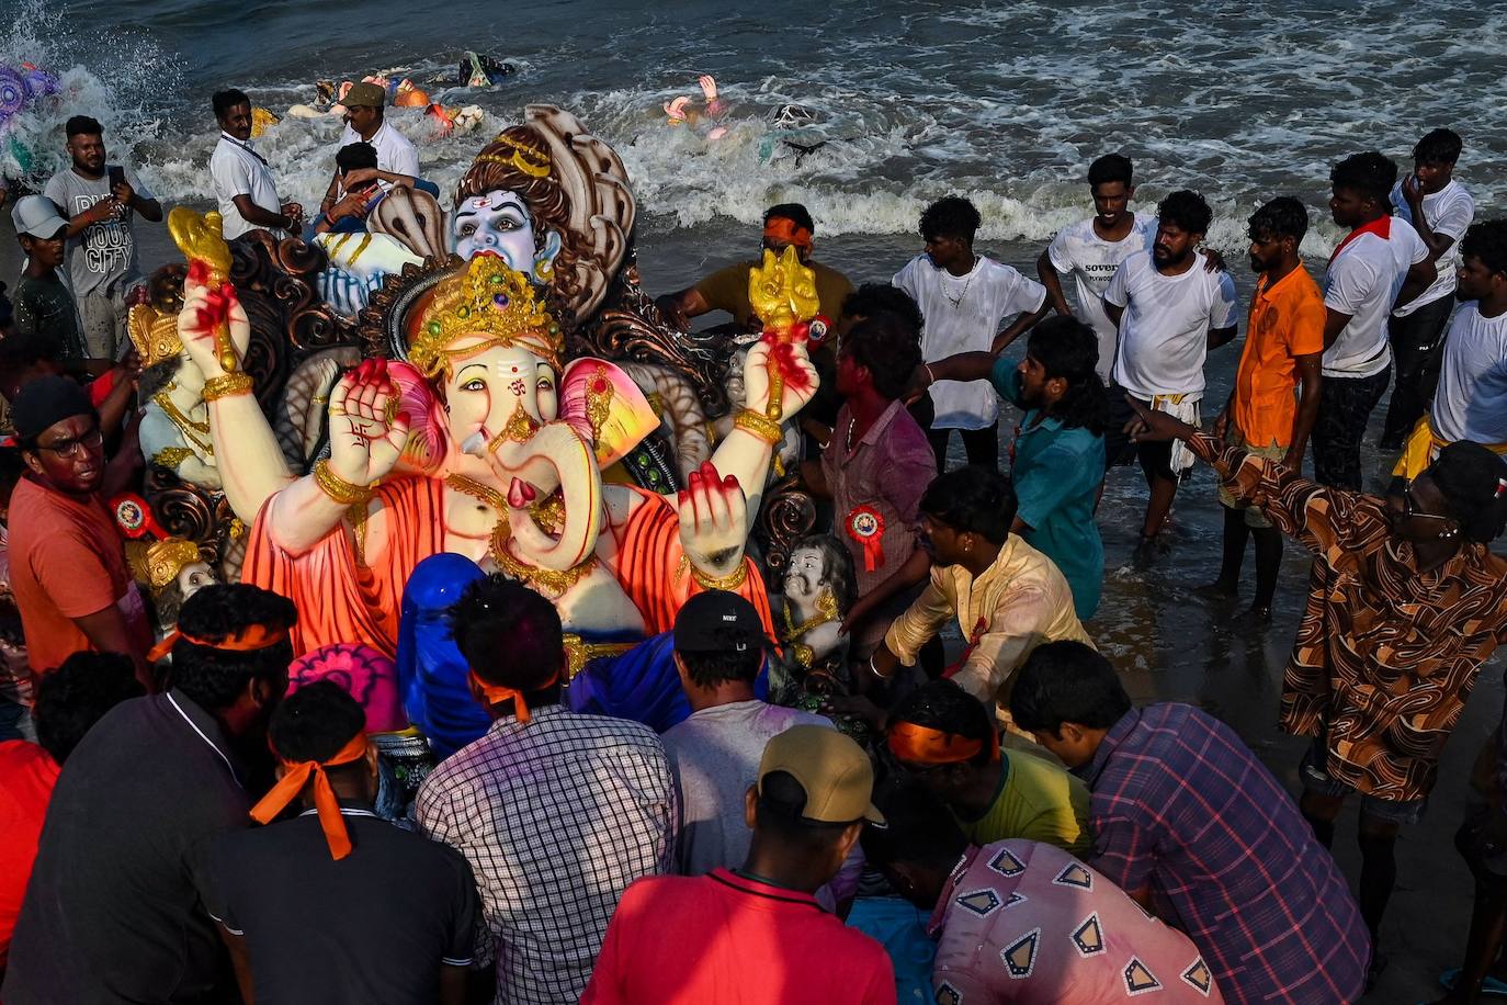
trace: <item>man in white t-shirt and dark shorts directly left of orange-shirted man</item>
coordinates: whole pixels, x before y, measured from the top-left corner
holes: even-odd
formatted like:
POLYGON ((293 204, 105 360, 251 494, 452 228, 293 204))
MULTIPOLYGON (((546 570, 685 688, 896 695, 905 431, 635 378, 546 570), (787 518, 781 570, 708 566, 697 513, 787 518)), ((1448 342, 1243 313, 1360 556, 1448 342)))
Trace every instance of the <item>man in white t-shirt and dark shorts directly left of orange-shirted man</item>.
POLYGON ((1168 441, 1132 444, 1124 428, 1135 413, 1126 395, 1198 425, 1204 360, 1209 350, 1234 339, 1239 324, 1234 280, 1230 273, 1207 270, 1198 250, 1213 221, 1209 203, 1197 191, 1183 190, 1163 199, 1156 211, 1151 250, 1126 258, 1105 291, 1105 313, 1120 330, 1105 461, 1141 461, 1151 490, 1141 524, 1142 550, 1162 532, 1192 455, 1168 441))

